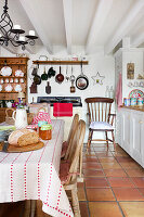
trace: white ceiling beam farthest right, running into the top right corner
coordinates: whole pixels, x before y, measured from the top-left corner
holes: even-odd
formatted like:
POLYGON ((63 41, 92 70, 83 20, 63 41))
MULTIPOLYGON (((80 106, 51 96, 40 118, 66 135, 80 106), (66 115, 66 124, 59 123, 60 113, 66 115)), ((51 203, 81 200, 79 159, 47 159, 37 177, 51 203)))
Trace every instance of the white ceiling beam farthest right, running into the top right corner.
POLYGON ((129 26, 133 24, 134 18, 136 17, 136 15, 139 15, 143 7, 144 7, 144 0, 136 0, 133 3, 133 7, 131 8, 127 16, 123 17, 123 21, 118 26, 113 38, 106 43, 105 46, 106 54, 109 54, 113 51, 113 49, 119 43, 119 41, 122 40, 125 36, 127 36, 129 26))

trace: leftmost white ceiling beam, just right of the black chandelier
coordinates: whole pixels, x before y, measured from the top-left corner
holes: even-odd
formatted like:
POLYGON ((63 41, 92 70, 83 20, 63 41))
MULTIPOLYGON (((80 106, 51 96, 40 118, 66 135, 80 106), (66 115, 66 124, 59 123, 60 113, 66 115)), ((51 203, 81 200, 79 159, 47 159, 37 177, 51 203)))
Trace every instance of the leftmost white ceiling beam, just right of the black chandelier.
POLYGON ((48 52, 52 54, 52 44, 48 38, 48 36, 44 34, 43 28, 41 27, 41 24, 39 23, 39 16, 35 15, 34 4, 29 0, 19 0, 23 9, 25 10, 27 16, 29 17, 32 26, 35 26, 36 31, 38 33, 39 38, 41 39, 43 46, 47 48, 48 52))

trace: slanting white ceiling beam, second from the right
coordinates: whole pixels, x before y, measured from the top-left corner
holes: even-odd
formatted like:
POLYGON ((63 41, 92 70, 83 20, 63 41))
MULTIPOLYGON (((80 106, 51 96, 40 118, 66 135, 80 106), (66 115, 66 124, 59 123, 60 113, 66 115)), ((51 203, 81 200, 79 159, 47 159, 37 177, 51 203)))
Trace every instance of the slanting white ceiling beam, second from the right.
POLYGON ((106 21, 106 17, 112 9, 114 0, 101 0, 99 1, 99 5, 95 11, 95 15, 93 18, 93 23, 91 25, 91 29, 88 36, 87 44, 86 44, 86 52, 90 53, 94 47, 94 43, 99 37, 99 34, 106 21))

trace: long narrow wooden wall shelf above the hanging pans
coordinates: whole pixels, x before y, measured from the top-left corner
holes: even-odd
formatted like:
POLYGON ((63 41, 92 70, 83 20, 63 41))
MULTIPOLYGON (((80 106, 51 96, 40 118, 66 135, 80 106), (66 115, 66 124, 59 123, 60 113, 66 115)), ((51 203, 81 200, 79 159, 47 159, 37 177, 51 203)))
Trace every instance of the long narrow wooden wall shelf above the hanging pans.
MULTIPOLYGON (((50 65, 80 65, 81 61, 32 61, 34 64, 50 64, 50 65)), ((88 61, 82 61, 82 65, 88 65, 88 61)))

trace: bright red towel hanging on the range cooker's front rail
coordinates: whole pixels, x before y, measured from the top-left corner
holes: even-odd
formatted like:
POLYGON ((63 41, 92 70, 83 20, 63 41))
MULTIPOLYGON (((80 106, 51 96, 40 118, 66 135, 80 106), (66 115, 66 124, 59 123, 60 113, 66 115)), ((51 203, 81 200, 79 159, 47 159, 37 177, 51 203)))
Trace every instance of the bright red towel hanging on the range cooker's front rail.
POLYGON ((53 103, 53 116, 73 116, 73 103, 53 103))

